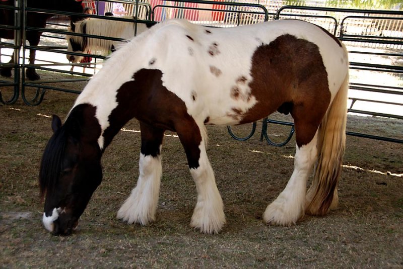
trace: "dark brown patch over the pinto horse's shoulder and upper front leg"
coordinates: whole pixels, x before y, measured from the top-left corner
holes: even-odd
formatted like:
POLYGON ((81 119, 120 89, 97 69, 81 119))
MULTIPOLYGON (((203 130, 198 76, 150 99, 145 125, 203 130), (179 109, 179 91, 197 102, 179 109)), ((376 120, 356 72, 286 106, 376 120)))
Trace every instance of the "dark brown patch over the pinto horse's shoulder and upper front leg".
POLYGON ((154 128, 177 132, 189 168, 197 168, 202 139, 196 122, 187 113, 186 104, 163 85, 161 70, 140 69, 132 78, 117 89, 118 105, 109 115, 111 125, 103 133, 104 148, 127 121, 136 118, 154 128))

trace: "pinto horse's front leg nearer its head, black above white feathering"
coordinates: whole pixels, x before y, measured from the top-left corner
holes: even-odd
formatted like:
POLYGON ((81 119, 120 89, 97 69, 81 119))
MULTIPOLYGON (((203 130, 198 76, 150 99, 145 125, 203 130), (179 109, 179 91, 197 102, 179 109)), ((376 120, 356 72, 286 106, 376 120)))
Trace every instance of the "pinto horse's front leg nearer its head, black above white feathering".
POLYGON ((155 220, 160 192, 162 165, 161 145, 164 130, 140 123, 142 147, 137 186, 117 212, 127 223, 147 225, 155 220))

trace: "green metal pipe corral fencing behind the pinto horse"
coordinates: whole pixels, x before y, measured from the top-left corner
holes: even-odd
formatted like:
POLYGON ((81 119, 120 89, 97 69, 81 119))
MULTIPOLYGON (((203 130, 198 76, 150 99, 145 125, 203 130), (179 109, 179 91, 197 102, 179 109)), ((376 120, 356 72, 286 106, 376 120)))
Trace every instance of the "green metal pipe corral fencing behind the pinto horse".
MULTIPOLYGON (((12 9, 18 14, 16 16, 15 26, 0 25, 0 29, 13 29, 17 33, 24 30, 38 30, 44 32, 44 36, 48 36, 55 39, 64 39, 65 29, 67 25, 61 25, 64 29, 60 30, 60 24, 48 24, 48 28, 32 28, 23 25, 23 15, 26 11, 30 12, 47 12, 58 16, 73 15, 66 12, 56 11, 44 11, 34 10, 26 8, 23 3, 25 1, 16 1, 16 7, 7 7, 0 5, 0 9, 12 9), (55 26, 55 29, 52 26, 55 26)), ((87 1, 91 2, 91 1, 87 1)), ((97 8, 99 3, 97 2, 97 8)), ((104 12, 111 11, 112 2, 106 2, 104 12)), ((233 27, 237 25, 259 23, 266 20, 278 20, 286 18, 297 18, 301 20, 310 21, 321 27, 327 29, 329 32, 335 34, 341 39, 349 48, 350 57, 350 72, 352 78, 350 79, 350 91, 349 91, 349 112, 359 113, 373 116, 389 117, 394 119, 403 119, 403 13, 397 11, 368 11, 368 10, 349 10, 349 9, 333 9, 333 8, 312 8, 312 7, 300 7, 300 6, 285 6, 278 9, 276 12, 272 11, 273 7, 265 7, 259 4, 244 4, 244 3, 229 3, 229 2, 216 2, 216 1, 160 1, 160 0, 146 0, 143 2, 128 2, 128 1, 114 1, 122 3, 129 12, 129 15, 140 18, 135 20, 138 23, 145 23, 146 21, 154 20, 161 21, 170 18, 185 18, 193 23, 204 24, 212 27, 233 27), (358 56, 358 57, 357 57, 358 56), (366 61, 360 60, 360 56, 368 58, 366 61), (380 59, 386 60, 389 63, 377 63, 380 59), (358 60, 357 60, 358 59, 358 60), (360 75, 356 72, 359 70, 360 75), (376 75, 389 75, 392 74, 397 77, 394 82, 389 83, 388 79, 379 79, 375 82, 371 81, 356 81, 356 77, 360 77, 366 73, 368 77, 376 77, 376 75), (376 75, 375 75, 376 74, 376 75), (366 104, 366 105, 365 105, 366 104), (371 104, 387 106, 383 108, 383 111, 376 111, 373 109, 362 109, 362 107, 371 106, 371 104), (389 108, 393 108, 395 112, 390 112, 389 108), (397 112, 396 112, 397 111, 397 112)), ((1 2, 0 2, 1 3, 1 2)), ((269 2, 270 3, 270 2, 269 2)), ((98 9, 95 10, 98 13, 98 9)), ((116 17, 105 17, 99 15, 89 15, 91 18, 103 18, 108 20, 121 20, 125 19, 116 17)), ((130 21, 130 20, 129 20, 130 21)), ((80 35, 80 34, 76 34, 80 35)), ((19 35, 16 34, 16 37, 19 35)), ((114 38, 98 37, 109 40, 116 40, 114 38)), ((14 44, 0 43, 2 48, 10 48, 16 51, 16 55, 19 55, 20 40, 16 38, 14 44)), ((22 50, 22 57, 20 61, 15 59, 15 62, 19 64, 13 65, 15 70, 14 80, 0 80, 0 87, 7 88, 12 87, 11 98, 5 100, 0 95, 0 102, 3 104, 13 104, 17 101, 21 92, 22 99, 27 105, 39 105, 43 99, 43 96, 47 89, 55 91, 63 91, 69 93, 79 94, 80 91, 74 89, 61 88, 50 86, 49 83, 55 82, 75 82, 86 80, 91 76, 88 73, 73 72, 68 70, 60 70, 60 67, 71 66, 70 63, 60 63, 55 61, 46 60, 45 63, 29 65, 25 63, 25 49, 35 49, 37 51, 53 52, 61 55, 66 54, 66 46, 27 46, 25 40, 23 42, 24 49, 22 50), (79 78, 66 78, 62 80, 39 80, 39 81, 26 81, 24 76, 24 70, 27 67, 34 66, 37 69, 59 72, 65 74, 81 75, 79 78), (20 72, 21 69, 21 72, 20 72), (21 85, 21 86, 20 86, 21 85), (26 97, 26 88, 34 87, 33 98, 26 97), (21 91, 20 91, 21 89, 21 91)), ((81 55, 79 53, 69 53, 73 55, 81 55)), ((103 56, 89 55, 101 60, 103 56)), ((18 56, 16 56, 18 58, 18 56)), ((362 57, 361 57, 362 58, 362 57)), ((64 57, 65 59, 65 57, 64 57)), ((7 63, 2 63, 1 66, 7 66, 7 63)), ((75 64, 82 65, 82 64, 75 64)), ((380 76, 384 77, 384 76, 380 76)), ((0 88, 0 89, 1 89, 0 88)), ((0 92, 1 93, 1 92, 0 92)), ((252 131, 246 137, 237 137, 229 128, 230 134, 239 140, 246 140, 250 138, 256 128, 256 123, 252 125, 252 131)), ((266 138, 268 143, 272 145, 284 145, 292 137, 294 132, 293 124, 291 122, 279 122, 264 119, 262 124, 261 139, 266 138), (283 143, 274 143, 267 135, 267 124, 284 124, 292 126, 288 139, 283 143)), ((392 141, 403 143, 403 140, 371 136, 365 134, 357 134, 348 132, 351 135, 364 136, 374 139, 380 139, 385 141, 392 141)))

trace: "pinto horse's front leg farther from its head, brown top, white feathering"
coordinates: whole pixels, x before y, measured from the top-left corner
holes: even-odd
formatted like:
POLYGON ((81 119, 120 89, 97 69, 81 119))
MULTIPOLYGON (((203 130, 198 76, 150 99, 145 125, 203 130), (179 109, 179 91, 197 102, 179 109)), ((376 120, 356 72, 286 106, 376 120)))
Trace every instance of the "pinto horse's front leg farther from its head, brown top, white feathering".
POLYGON ((193 119, 175 126, 196 184, 197 203, 190 226, 203 233, 218 233, 225 224, 224 205, 206 153, 206 129, 193 119))

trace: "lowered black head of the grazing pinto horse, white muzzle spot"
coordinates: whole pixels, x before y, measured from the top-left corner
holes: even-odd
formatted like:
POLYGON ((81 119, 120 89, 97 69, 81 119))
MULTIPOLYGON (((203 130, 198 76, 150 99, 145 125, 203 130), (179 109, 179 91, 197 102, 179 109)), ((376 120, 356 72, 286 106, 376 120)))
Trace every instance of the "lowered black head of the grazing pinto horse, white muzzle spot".
POLYGON ((62 126, 53 116, 54 133, 42 157, 39 183, 41 194, 46 193, 43 224, 55 235, 73 232, 102 180, 101 150, 82 134, 83 118, 68 119, 62 126))

